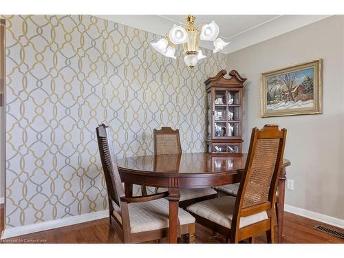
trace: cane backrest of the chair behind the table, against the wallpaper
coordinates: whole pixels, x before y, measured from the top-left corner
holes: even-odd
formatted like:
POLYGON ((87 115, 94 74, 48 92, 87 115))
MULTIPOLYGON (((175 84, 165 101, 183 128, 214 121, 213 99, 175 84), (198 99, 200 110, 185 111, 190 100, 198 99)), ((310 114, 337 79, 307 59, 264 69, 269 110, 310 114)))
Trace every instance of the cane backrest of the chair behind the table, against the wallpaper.
POLYGON ((182 153, 178 129, 174 131, 171 127, 162 127, 154 129, 153 134, 155 155, 182 153))

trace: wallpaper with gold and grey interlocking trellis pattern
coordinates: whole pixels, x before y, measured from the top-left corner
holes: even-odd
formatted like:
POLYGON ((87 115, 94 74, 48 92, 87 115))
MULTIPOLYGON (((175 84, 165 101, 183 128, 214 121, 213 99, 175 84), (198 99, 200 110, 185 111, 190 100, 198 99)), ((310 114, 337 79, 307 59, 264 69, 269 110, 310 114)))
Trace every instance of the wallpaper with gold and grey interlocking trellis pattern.
POLYGON ((224 54, 193 72, 152 50, 160 36, 92 16, 6 19, 6 227, 107 208, 96 126, 110 125, 118 158, 153 153, 154 128, 180 129, 204 151, 205 86, 224 54))

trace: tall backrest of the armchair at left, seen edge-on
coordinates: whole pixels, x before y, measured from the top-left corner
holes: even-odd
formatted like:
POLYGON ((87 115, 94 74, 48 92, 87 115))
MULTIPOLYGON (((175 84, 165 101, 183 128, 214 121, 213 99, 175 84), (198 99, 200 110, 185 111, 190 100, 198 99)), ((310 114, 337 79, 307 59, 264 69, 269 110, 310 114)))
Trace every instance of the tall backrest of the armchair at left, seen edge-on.
POLYGON ((121 215, 120 197, 125 196, 120 174, 116 166, 114 147, 112 144, 111 132, 109 127, 104 124, 96 128, 100 159, 102 161, 107 193, 109 195, 109 206, 114 208, 121 215), (115 207, 114 207, 115 206, 115 207), (118 207, 116 207, 118 206, 118 207))

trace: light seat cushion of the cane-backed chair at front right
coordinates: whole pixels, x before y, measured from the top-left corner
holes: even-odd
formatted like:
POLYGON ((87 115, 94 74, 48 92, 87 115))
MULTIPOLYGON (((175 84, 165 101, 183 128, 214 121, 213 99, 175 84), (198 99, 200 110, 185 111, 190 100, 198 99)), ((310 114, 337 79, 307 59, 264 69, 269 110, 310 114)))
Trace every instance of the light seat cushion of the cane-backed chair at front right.
MULTIPOLYGON (((216 224, 230 228, 233 219, 235 200, 236 198, 233 196, 219 197, 192 204, 191 206, 187 207, 187 210, 200 217, 204 217, 211 222, 215 222, 216 224)), ((243 228, 244 226, 260 222, 264 219, 268 219, 268 214, 266 211, 262 211, 247 217, 241 217, 239 227, 243 228)))

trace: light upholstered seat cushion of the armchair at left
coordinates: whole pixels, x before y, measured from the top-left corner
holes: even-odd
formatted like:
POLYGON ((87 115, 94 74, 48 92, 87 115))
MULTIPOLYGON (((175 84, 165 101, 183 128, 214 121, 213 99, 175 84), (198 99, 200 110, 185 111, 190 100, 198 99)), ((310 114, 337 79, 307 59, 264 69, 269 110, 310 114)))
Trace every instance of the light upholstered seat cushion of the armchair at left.
MULTIPOLYGON (((169 202, 158 199, 128 204, 130 231, 138 233, 169 227, 169 202)), ((180 225, 195 223, 195 218, 179 208, 180 225)))

